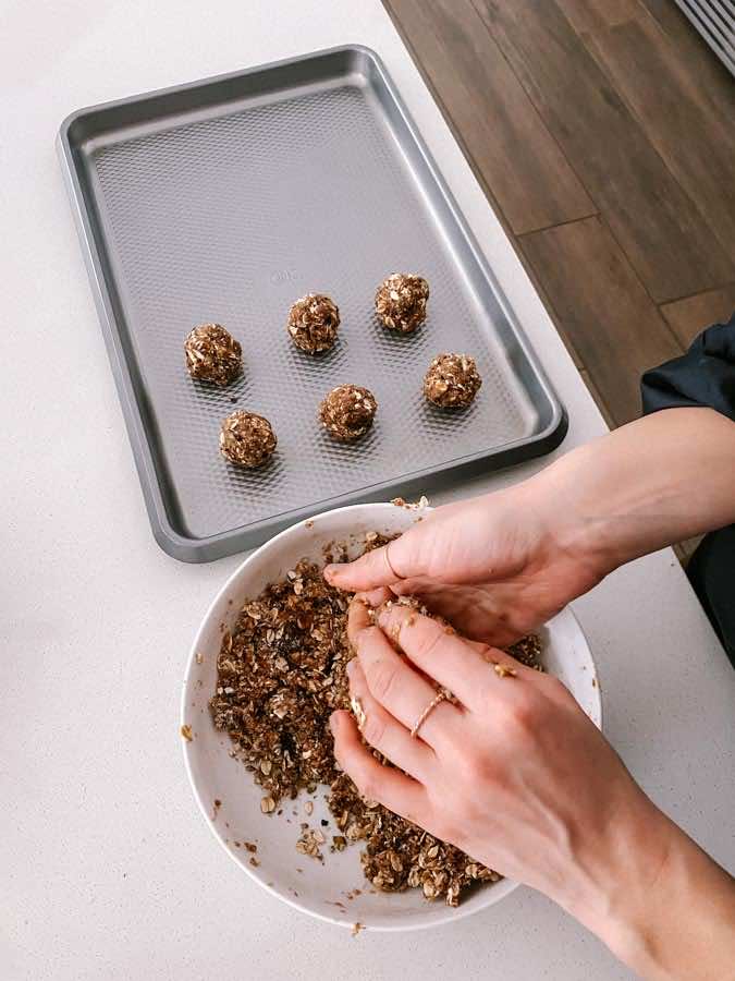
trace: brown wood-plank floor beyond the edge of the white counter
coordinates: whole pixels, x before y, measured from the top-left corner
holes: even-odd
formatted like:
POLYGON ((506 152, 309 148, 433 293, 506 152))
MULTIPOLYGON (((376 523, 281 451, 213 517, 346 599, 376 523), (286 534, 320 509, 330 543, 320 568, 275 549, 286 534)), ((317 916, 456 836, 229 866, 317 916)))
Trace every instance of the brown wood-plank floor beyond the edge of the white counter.
POLYGON ((385 0, 611 425, 735 308, 735 81, 673 0, 385 0))

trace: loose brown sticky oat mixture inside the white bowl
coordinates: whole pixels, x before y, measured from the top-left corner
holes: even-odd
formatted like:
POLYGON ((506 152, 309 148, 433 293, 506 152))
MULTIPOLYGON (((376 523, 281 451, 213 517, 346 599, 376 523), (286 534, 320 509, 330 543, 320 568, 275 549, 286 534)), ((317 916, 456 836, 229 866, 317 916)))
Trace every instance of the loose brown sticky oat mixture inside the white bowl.
MULTIPOLYGON (((367 538, 368 549, 387 541, 375 533, 367 538)), ((333 548, 324 558, 343 561, 346 554, 333 548)), ((358 843, 363 871, 373 888, 420 888, 427 899, 443 897, 456 906, 471 883, 500 876, 381 804, 365 801, 335 766, 329 716, 350 707, 347 605, 348 597, 324 582, 321 567, 307 561, 247 601, 233 633, 222 639, 210 702, 215 726, 230 735, 232 754, 262 788, 264 813, 278 812, 284 799, 303 789, 330 787, 336 834, 304 823, 294 859, 302 853, 323 860, 324 851, 358 843)), ((539 666, 537 638, 511 650, 539 666)), ((310 812, 310 802, 305 809, 310 812)))

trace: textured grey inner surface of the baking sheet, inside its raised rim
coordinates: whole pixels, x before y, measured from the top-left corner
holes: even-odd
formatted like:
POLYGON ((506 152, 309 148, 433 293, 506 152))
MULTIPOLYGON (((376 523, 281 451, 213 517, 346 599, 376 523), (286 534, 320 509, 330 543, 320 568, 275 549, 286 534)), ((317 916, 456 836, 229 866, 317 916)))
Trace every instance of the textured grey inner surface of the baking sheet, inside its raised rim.
POLYGON ((495 329, 504 315, 470 287, 445 216, 364 77, 108 140, 86 166, 181 534, 205 538, 316 511, 335 496, 359 499, 538 429, 495 329), (427 323, 408 337, 385 330, 372 310, 377 284, 396 270, 420 272, 431 288, 427 323), (290 304, 306 292, 331 295, 342 317, 336 347, 317 358, 285 330, 290 304), (192 382, 184 367, 185 335, 211 320, 243 346, 244 374, 224 390, 192 382), (483 386, 465 412, 442 413, 421 395, 441 351, 477 359, 483 386), (379 403, 372 432, 353 446, 332 441, 316 417, 323 395, 345 382, 379 403), (220 421, 235 408, 266 415, 277 432, 265 468, 238 471, 219 455, 220 421))

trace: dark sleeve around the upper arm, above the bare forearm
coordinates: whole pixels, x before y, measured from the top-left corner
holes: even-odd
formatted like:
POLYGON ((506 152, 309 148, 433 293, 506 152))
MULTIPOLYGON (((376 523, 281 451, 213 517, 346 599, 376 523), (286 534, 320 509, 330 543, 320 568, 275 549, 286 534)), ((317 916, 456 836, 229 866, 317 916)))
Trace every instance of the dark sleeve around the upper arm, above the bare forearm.
POLYGON ((702 405, 735 421, 735 313, 708 327, 686 354, 646 372, 644 414, 659 409, 702 405))

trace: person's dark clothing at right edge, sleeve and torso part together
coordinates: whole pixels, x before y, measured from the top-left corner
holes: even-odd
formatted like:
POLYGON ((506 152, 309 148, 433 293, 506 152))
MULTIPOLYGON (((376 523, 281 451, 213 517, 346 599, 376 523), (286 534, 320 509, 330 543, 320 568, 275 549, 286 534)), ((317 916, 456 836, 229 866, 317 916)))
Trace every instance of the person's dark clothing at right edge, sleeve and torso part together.
MULTIPOLYGON (((735 313, 700 334, 686 354, 646 372, 641 389, 644 414, 700 405, 735 421, 735 313)), ((735 666, 735 525, 706 535, 687 574, 735 666)))

